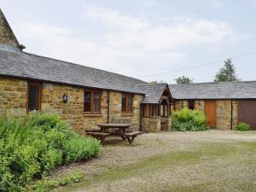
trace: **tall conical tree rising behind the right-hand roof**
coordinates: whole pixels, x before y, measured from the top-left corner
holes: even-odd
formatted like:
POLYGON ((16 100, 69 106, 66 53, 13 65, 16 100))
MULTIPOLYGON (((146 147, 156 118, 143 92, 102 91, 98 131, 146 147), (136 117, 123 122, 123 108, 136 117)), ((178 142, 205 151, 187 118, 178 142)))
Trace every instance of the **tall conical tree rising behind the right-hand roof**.
POLYGON ((224 67, 218 70, 215 75, 214 82, 225 82, 225 81, 238 81, 236 77, 236 68, 234 67, 231 58, 224 61, 224 67))

